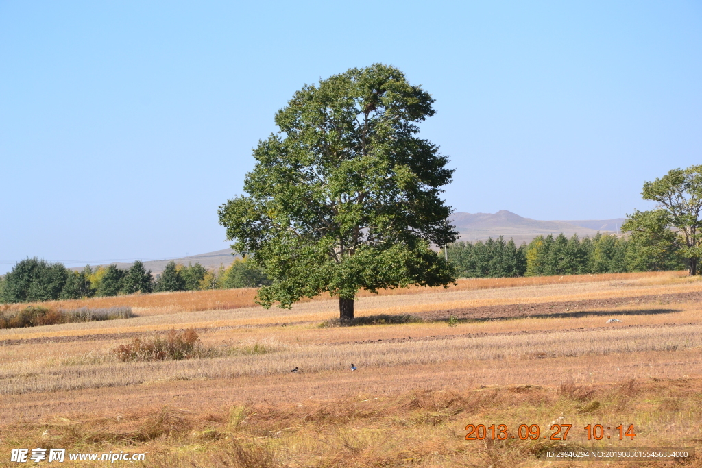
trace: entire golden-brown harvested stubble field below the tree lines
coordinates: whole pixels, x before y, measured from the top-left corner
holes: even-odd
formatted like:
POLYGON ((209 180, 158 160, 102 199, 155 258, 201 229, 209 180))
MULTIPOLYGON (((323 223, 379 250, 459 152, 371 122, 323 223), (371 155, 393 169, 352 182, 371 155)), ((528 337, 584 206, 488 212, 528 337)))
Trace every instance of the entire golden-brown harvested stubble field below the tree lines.
POLYGON ((13 448, 147 453, 147 467, 493 468, 589 466, 540 458, 555 448, 702 449, 702 282, 680 273, 363 294, 356 314, 374 324, 358 326, 330 320, 333 298, 266 311, 254 295, 67 301, 51 307, 129 305, 137 317, 0 330, 0 464, 13 448), (113 352, 190 328, 208 357, 113 352), (541 433, 467 441, 467 424, 541 433), (552 424, 572 424, 566 441, 552 424), (634 424, 635 440, 612 429, 588 441, 588 424, 634 424))

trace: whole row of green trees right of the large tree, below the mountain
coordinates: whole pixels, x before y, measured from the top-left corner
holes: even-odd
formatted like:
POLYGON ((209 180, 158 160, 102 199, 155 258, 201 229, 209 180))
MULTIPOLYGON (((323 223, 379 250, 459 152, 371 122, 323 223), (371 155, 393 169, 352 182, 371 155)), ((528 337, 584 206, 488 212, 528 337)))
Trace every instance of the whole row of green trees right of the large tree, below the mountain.
POLYGON ((510 239, 457 242, 446 251, 458 276, 498 278, 563 274, 624 273, 684 269, 673 249, 651 252, 650 246, 614 234, 597 233, 592 239, 537 236, 517 247, 510 239))

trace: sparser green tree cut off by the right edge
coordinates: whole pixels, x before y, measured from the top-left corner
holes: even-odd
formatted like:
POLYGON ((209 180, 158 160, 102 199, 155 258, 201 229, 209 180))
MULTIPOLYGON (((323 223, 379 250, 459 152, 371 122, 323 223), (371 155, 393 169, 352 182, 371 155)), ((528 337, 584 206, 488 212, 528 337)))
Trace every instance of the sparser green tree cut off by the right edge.
POLYGON ((672 169, 662 178, 644 182, 644 200, 654 210, 638 211, 623 223, 642 255, 668 267, 671 250, 685 259, 690 275, 698 274, 702 257, 702 166, 672 169))

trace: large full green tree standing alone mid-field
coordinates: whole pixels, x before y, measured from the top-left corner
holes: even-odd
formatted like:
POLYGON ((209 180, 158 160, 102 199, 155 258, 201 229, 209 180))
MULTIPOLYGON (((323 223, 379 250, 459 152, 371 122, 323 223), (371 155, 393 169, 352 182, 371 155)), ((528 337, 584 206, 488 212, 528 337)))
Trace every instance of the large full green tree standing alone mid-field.
POLYGON ((399 69, 375 64, 306 85, 275 115, 277 135, 253 150, 247 196, 220 206, 220 224, 272 281, 258 302, 339 297, 354 316, 359 290, 446 286, 453 269, 430 245, 457 239, 440 187, 448 159, 418 138, 434 100, 399 69))

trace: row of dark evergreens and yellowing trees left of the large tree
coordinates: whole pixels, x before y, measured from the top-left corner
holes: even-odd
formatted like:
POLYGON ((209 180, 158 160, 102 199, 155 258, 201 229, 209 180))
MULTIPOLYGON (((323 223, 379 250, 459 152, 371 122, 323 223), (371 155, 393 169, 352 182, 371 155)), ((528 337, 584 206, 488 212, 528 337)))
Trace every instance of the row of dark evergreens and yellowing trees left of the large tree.
POLYGON ((221 288, 253 288, 269 283, 265 274, 248 259, 234 260, 230 267, 208 270, 199 263, 180 265, 168 262, 155 278, 137 260, 128 269, 116 265, 79 272, 61 263, 27 258, 11 272, 0 276, 0 302, 39 302, 81 297, 114 296, 162 291, 221 288))

